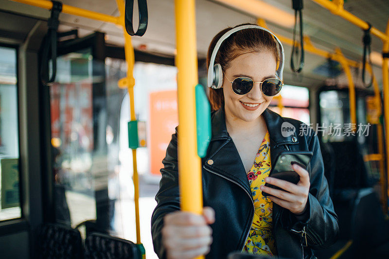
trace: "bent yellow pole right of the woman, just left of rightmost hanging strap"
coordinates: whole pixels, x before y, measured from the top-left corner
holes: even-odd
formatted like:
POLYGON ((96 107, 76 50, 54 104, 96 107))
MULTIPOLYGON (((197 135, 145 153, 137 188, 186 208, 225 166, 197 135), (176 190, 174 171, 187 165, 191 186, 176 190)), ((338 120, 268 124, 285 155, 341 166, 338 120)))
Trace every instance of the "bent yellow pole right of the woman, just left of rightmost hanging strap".
POLYGON ((356 129, 356 108, 355 108, 355 86, 353 81, 353 75, 351 74, 349 64, 346 58, 343 56, 339 48, 335 50, 337 59, 342 64, 347 80, 349 82, 349 103, 350 103, 350 122, 352 123, 351 129, 355 132, 356 129))

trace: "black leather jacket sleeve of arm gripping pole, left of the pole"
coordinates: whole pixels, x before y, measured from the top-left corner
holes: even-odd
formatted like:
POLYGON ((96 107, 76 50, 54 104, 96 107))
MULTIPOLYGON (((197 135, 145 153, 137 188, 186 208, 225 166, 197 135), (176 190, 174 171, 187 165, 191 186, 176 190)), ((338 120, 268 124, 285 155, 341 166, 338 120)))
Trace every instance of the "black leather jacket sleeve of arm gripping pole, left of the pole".
POLYGON ((151 216, 151 236, 153 239, 154 251, 160 259, 166 259, 166 250, 162 245, 163 217, 171 212, 180 209, 179 186, 178 186, 178 165, 177 165, 177 128, 172 135, 166 156, 162 160, 164 168, 160 170, 162 178, 159 182, 159 191, 155 199, 155 207, 151 216))

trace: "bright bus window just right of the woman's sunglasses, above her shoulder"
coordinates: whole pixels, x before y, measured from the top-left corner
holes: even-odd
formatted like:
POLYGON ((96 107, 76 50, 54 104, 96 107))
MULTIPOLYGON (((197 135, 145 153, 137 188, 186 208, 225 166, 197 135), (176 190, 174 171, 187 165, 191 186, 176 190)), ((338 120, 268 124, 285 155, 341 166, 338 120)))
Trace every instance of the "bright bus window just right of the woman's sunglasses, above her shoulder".
POLYGON ((310 123, 309 118, 309 91, 302 86, 284 85, 281 90, 283 108, 277 106, 278 101, 273 98, 269 109, 283 117, 293 118, 306 124, 310 123))

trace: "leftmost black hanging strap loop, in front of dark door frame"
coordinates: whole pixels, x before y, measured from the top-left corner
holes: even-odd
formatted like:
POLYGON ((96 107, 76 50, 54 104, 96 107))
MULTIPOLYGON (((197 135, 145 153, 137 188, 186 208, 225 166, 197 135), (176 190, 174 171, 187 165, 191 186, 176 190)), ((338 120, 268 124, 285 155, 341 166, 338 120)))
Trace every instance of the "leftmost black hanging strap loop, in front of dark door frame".
POLYGON ((43 85, 49 85, 54 82, 57 70, 57 30, 59 25, 59 14, 62 12, 62 2, 52 1, 53 8, 51 10, 51 17, 47 22, 49 27, 44 38, 42 60, 40 66, 40 80, 43 85), (51 55, 49 52, 51 50, 51 55), (49 76, 49 62, 52 60, 52 76, 49 76))

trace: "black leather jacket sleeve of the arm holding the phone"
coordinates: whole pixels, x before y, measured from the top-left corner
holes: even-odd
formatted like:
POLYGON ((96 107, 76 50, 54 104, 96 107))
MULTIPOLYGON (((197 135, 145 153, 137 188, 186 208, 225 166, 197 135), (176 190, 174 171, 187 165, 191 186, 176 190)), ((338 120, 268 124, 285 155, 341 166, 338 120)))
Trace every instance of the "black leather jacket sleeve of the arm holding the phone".
MULTIPOLYGON (((304 217, 296 217, 289 211, 289 230, 301 230, 305 226, 307 243, 313 249, 326 248, 336 242, 339 234, 338 220, 330 198, 324 163, 315 131, 308 140, 308 149, 313 152, 308 172, 310 190, 304 217), (309 170, 310 168, 310 170, 309 170)), ((305 243, 305 239, 303 240, 305 243)))

